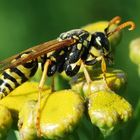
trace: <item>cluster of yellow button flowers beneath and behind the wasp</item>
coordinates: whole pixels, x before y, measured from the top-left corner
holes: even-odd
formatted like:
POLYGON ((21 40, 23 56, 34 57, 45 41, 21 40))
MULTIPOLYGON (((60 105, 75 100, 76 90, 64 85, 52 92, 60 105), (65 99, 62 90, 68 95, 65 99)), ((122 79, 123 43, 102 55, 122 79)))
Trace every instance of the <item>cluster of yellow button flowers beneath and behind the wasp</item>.
MULTIPOLYGON (((102 31, 107 25, 108 22, 104 21, 87 25, 83 29, 90 32, 102 31)), ((116 32, 109 38, 113 50, 120 38, 120 32, 116 32)), ((131 56, 133 58, 133 54, 131 56)), ((87 67, 87 70, 92 80, 90 83, 86 82, 81 69, 72 79, 62 73, 67 83, 70 83, 69 89, 62 88, 60 91, 52 92, 51 88, 44 86, 41 93, 39 120, 42 137, 49 139, 65 137, 75 130, 83 116, 90 118, 89 121, 97 126, 104 136, 108 136, 131 118, 132 106, 117 94, 124 90, 127 80, 125 73, 122 70, 108 69, 106 85, 98 66, 87 67)), ((36 77, 38 75, 40 77, 38 73, 36 77)), ((60 79, 58 84, 63 87, 60 79)), ((2 112, 0 113, 0 139, 6 137, 12 122, 18 124, 22 140, 37 139, 37 99, 38 83, 30 81, 22 84, 0 101, 0 112, 2 112)))

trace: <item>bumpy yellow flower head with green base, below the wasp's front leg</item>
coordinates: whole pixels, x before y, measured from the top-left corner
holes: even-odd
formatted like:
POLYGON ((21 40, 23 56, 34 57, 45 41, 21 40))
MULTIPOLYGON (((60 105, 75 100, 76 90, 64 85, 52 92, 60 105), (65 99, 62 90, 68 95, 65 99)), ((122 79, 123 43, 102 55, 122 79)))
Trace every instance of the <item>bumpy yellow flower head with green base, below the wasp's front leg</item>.
POLYGON ((132 106, 114 92, 102 90, 88 97, 88 113, 91 122, 108 136, 131 118, 132 106))

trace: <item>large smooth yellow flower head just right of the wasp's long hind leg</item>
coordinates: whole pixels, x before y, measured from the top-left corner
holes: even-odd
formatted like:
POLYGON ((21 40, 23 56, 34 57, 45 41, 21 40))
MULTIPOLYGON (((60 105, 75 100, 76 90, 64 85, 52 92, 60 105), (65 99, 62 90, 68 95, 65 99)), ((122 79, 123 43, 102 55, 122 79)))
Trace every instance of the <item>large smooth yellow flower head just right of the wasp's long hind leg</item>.
MULTIPOLYGON (((44 99, 43 99, 44 100, 44 99)), ((74 130, 83 115, 81 96, 72 90, 54 92, 44 100, 40 127, 43 137, 63 138, 74 130)))

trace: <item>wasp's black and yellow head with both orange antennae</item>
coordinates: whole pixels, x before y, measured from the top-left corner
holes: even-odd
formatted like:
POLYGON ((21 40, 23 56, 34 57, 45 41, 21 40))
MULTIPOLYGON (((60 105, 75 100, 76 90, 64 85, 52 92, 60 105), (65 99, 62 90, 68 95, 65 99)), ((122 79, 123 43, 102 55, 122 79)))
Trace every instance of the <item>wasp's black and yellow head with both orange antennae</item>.
POLYGON ((115 32, 121 31, 123 28, 130 26, 129 30, 135 28, 135 23, 132 21, 127 21, 121 25, 118 25, 121 21, 119 16, 114 17, 105 28, 104 32, 95 32, 92 34, 91 38, 91 49, 90 54, 97 58, 109 58, 111 53, 111 47, 108 38, 112 36, 115 32), (118 25, 113 31, 110 31, 110 27, 116 24, 118 25))

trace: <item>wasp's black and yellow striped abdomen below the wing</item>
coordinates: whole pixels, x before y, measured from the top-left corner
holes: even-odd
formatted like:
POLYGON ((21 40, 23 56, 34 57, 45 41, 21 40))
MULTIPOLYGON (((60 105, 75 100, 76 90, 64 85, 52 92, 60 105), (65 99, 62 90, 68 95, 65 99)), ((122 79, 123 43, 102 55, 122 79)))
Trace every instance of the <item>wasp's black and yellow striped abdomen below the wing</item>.
MULTIPOLYGON (((31 51, 30 51, 31 52, 31 51)), ((13 61, 21 57, 26 57, 30 52, 25 52, 16 57, 13 61)), ((12 61, 12 62, 13 62, 12 61)), ((12 63, 11 62, 11 63, 12 63)), ((30 60, 22 65, 18 65, 14 68, 6 69, 0 77, 0 99, 7 96, 12 90, 26 82, 32 77, 38 68, 38 61, 30 60)))

